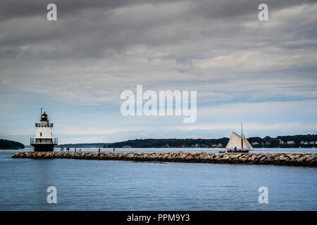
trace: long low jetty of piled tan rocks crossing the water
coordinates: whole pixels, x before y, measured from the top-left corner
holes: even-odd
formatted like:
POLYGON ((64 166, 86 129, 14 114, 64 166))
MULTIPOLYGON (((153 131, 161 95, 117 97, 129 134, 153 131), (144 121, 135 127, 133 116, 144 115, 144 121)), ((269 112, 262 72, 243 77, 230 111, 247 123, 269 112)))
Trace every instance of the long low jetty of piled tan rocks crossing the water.
POLYGON ((317 166, 313 153, 95 153, 95 152, 21 152, 12 158, 78 159, 78 160, 130 160, 156 162, 202 162, 256 165, 317 166))

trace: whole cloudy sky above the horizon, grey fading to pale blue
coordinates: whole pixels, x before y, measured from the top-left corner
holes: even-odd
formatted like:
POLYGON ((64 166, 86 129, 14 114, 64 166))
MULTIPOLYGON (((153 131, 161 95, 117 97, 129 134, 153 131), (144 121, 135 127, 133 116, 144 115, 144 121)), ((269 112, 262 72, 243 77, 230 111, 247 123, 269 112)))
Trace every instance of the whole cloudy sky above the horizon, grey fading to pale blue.
POLYGON ((29 144, 316 134, 317 1, 0 1, 0 137, 29 144), (57 6, 57 21, 46 6, 57 6), (268 4, 268 21, 258 6, 268 4), (197 91, 197 121, 120 113, 120 94, 197 91))

